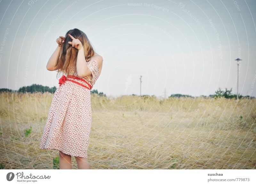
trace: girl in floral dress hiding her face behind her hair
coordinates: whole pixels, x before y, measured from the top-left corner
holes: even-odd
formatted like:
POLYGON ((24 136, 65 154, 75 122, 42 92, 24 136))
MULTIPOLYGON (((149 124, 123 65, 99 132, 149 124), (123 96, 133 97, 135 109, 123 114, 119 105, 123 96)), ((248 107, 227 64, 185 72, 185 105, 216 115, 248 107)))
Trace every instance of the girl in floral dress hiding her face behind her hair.
POLYGON ((57 43, 46 67, 57 70, 57 76, 67 76, 59 79, 60 87, 53 95, 40 148, 59 150, 60 169, 72 169, 71 156, 75 156, 78 169, 89 169, 90 90, 100 76, 103 59, 79 29, 69 30, 57 43))

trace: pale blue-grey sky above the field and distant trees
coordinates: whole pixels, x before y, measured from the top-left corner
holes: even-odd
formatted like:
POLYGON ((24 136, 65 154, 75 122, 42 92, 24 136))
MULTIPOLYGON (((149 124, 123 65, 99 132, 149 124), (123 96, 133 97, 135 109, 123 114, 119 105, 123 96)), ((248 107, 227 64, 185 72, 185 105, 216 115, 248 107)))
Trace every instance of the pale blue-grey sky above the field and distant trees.
POLYGON ((0 1, 0 88, 58 87, 46 64, 56 39, 86 33, 103 57, 92 90, 256 97, 256 1, 0 1), (236 58, 241 58, 239 67, 236 58))

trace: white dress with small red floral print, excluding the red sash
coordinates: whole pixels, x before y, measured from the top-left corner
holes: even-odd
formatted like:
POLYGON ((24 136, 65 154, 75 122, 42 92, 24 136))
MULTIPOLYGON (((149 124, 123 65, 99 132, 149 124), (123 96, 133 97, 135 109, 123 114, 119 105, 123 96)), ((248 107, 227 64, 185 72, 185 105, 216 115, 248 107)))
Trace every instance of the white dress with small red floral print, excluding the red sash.
MULTIPOLYGON (((93 87, 99 78, 99 66, 94 59, 87 65, 92 74, 83 79, 93 87)), ((84 81, 72 80, 90 87, 84 81)), ((91 91, 72 81, 62 81, 52 98, 40 148, 87 158, 91 122, 91 91)))

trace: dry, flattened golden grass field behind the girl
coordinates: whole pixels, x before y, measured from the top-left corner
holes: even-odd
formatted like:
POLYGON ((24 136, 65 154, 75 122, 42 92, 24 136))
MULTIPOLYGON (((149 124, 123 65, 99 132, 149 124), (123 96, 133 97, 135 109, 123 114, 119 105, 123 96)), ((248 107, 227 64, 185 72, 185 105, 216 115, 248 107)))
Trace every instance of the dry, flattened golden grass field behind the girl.
MULTIPOLYGON (((52 97, 0 94, 3 169, 53 168, 59 152, 39 148, 52 97)), ((91 100, 90 169, 255 169, 255 99, 91 100)))

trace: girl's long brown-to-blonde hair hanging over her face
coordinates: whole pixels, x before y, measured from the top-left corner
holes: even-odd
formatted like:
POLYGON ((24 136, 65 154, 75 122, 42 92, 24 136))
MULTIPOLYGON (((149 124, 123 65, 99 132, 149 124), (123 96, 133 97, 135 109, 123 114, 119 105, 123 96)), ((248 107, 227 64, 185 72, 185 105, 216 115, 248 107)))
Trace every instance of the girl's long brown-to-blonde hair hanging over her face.
POLYGON ((90 60, 90 57, 94 55, 94 49, 92 48, 92 44, 90 43, 88 37, 84 32, 77 28, 68 30, 65 36, 64 43, 62 44, 60 50, 60 57, 57 63, 57 76, 61 72, 66 75, 74 75, 76 71, 76 59, 78 50, 68 43, 69 41, 72 42, 72 39, 68 36, 68 34, 72 35, 74 38, 79 39, 82 42, 86 62, 88 62, 90 60))

